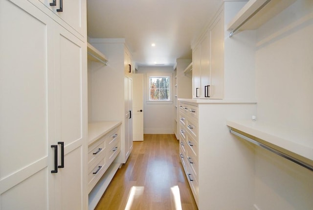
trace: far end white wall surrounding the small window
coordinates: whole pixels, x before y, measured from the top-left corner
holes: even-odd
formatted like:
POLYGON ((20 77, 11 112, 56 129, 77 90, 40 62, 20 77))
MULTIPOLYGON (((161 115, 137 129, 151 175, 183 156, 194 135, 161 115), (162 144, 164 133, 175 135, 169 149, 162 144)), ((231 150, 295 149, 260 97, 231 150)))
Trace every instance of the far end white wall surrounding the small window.
MULTIPOLYGON (((155 73, 155 76, 162 76, 162 73, 171 73, 172 67, 139 67, 137 73, 143 73, 143 132, 144 134, 173 134, 173 95, 171 103, 147 103, 147 73, 155 73)), ((173 84, 171 84, 173 90, 173 84)))

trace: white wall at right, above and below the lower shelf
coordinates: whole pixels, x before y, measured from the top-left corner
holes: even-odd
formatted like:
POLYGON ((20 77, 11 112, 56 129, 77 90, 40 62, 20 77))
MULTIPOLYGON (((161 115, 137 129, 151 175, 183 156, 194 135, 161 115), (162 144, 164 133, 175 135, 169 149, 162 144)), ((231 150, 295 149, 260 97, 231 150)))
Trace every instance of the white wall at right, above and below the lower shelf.
MULTIPOLYGON (((313 148, 313 1, 298 0, 257 30, 257 120, 313 148)), ((256 149, 259 210, 312 210, 313 172, 256 149)))

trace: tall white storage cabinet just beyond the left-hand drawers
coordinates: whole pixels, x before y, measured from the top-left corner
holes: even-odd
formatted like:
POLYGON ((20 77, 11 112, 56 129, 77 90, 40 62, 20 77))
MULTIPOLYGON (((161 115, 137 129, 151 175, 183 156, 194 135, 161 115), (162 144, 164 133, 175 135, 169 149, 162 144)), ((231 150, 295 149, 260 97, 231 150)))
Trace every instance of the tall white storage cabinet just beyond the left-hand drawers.
POLYGON ((93 121, 122 121, 117 161, 126 163, 133 149, 131 53, 125 39, 90 39, 89 43, 110 61, 105 67, 92 67, 90 115, 93 121))

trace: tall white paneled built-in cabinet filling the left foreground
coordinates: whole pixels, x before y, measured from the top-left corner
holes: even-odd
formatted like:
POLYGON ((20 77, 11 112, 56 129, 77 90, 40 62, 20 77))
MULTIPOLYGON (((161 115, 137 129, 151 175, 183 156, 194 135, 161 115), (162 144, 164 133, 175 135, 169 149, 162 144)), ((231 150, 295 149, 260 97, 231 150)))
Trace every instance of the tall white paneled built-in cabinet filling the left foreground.
POLYGON ((37 0, 0 10, 0 209, 86 210, 86 33, 37 0))

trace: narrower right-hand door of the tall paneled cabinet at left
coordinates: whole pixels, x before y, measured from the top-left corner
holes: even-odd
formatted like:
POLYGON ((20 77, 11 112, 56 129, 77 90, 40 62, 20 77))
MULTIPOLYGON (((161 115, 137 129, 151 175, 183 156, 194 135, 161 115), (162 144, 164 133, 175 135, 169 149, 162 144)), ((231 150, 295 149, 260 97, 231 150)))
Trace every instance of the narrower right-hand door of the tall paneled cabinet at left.
POLYGON ((56 209, 84 210, 87 144, 83 99, 87 87, 87 49, 85 43, 61 26, 55 29, 54 43, 56 139, 64 142, 64 155, 59 157, 64 160, 64 168, 52 174, 56 180, 56 209))

